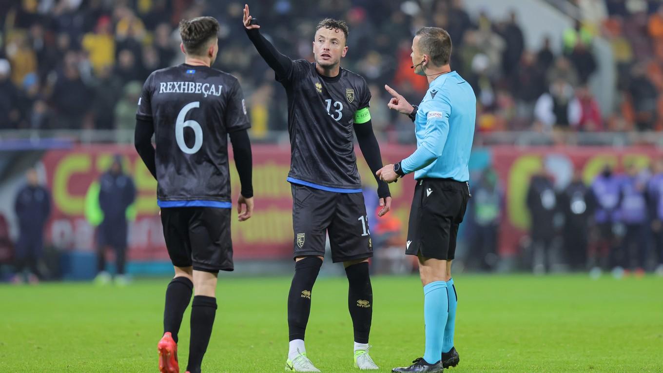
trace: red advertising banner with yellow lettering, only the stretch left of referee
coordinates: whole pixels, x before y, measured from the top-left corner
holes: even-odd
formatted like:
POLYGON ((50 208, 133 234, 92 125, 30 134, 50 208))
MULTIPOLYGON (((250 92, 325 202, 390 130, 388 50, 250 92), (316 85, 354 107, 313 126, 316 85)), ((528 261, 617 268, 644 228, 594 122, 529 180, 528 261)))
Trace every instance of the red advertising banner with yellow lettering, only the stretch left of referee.
MULTIPOLYGON (((385 162, 400 161, 412 147, 383 147, 385 162)), ((130 146, 93 145, 49 151, 42 162, 52 192, 53 213, 46 227, 47 240, 65 250, 93 250, 95 227, 85 216, 88 189, 111 164, 113 155, 123 155, 125 173, 137 188, 136 218, 129 228, 129 260, 168 260, 156 205, 156 181, 130 146)), ((361 153, 357 155, 362 180, 375 188, 375 181, 361 153)), ((247 222, 231 224, 235 258, 287 258, 292 254, 292 196, 286 182, 290 169, 290 147, 253 146, 255 212, 247 222)), ((231 162, 233 206, 239 194, 239 177, 231 162)), ((391 217, 401 222, 405 240, 414 181, 411 176, 391 185, 394 198, 391 217)), ((236 211, 236 210, 235 210, 236 211)))

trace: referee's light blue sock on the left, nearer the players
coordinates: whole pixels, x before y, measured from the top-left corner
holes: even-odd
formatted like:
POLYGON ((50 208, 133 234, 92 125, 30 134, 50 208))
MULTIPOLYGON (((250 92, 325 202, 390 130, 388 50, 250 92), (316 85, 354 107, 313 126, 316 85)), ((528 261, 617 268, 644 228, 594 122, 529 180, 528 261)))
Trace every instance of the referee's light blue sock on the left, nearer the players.
POLYGON ((447 283, 434 281, 424 286, 424 322, 426 323, 426 350, 424 360, 435 364, 442 358, 444 327, 449 315, 447 283))

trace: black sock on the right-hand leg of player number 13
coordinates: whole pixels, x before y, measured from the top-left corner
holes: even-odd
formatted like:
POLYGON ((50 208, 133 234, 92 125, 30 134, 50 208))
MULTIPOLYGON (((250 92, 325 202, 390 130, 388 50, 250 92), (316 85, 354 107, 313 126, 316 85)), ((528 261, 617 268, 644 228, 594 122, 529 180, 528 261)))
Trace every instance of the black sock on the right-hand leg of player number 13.
POLYGON ((368 343, 373 318, 373 287, 369 276, 369 263, 364 261, 345 268, 349 289, 347 307, 352 317, 355 342, 368 343))

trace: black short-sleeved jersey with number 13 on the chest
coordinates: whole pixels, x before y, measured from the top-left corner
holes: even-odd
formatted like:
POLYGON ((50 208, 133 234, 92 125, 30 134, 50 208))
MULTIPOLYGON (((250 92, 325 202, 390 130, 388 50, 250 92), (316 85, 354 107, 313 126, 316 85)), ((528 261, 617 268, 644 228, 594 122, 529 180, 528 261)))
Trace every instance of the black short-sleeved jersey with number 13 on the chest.
POLYGON ((316 64, 293 61, 288 76, 276 76, 288 95, 288 181, 328 188, 361 188, 354 151, 355 112, 367 108, 364 78, 341 68, 328 78, 316 64))

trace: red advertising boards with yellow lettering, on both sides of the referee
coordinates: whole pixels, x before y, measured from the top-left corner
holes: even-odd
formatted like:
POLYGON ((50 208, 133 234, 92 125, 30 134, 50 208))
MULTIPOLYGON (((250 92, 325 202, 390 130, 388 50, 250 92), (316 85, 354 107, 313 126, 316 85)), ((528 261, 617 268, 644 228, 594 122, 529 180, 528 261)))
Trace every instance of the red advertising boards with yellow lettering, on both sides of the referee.
MULTIPOLYGON (((382 147, 385 163, 400 161, 413 147, 388 145, 382 147)), ((530 216, 525 196, 530 177, 542 168, 555 178, 562 188, 579 169, 586 183, 591 183, 601 168, 610 163, 619 172, 627 163, 646 167, 652 159, 663 157, 663 151, 651 147, 513 147, 499 146, 475 149, 479 155, 470 163, 471 169, 492 163, 505 188, 506 204, 500 227, 499 252, 503 256, 517 254, 518 243, 529 228, 530 216), (479 158, 483 157, 483 161, 479 158), (487 159, 485 159, 487 157, 487 159), (476 161, 476 162, 474 162, 476 161), (475 163, 473 167, 473 163, 475 163)), ((131 146, 80 146, 70 150, 49 151, 43 163, 47 170, 48 186, 52 190, 53 214, 46 228, 47 237, 58 248, 93 250, 95 227, 85 216, 85 198, 90 185, 111 164, 114 154, 125 157, 125 172, 137 187, 135 208, 137 216, 129 229, 130 260, 168 260, 161 221, 156 206, 156 181, 131 146)), ((357 153, 359 172, 367 187, 375 188, 373 175, 361 153, 357 153)), ((290 148, 278 145, 253 146, 253 185, 256 210, 247 222, 238 222, 233 213, 231 224, 235 258, 288 258, 292 252, 292 196, 286 182, 290 167, 290 148)), ((239 193, 239 178, 231 162, 233 206, 239 193)), ((476 173, 472 174, 477 175, 476 173)), ((472 181, 471 181, 472 185, 472 181)), ((406 229, 410 202, 414 191, 412 175, 391 184, 393 198, 389 218, 400 222, 402 242, 406 229)), ((382 220, 379 220, 382 221, 382 220)), ((390 224, 393 226, 393 224, 390 224)), ((375 227, 371 227, 373 229, 375 227)))

